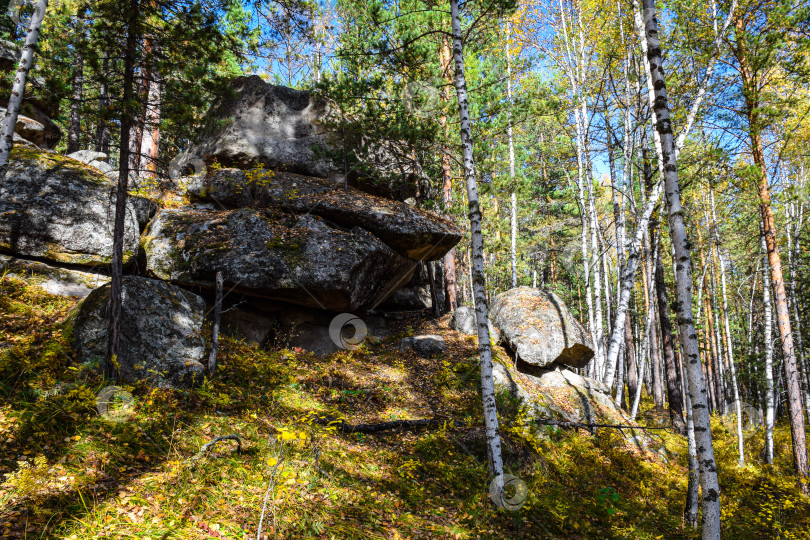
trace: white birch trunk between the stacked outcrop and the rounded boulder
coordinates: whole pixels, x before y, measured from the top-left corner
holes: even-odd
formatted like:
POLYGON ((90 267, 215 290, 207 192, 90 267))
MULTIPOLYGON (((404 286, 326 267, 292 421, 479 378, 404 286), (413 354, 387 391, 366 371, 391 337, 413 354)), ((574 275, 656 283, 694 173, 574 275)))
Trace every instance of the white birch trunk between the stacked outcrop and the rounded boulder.
POLYGON ((475 179, 470 112, 467 101, 467 81, 464 76, 464 48, 461 42, 461 19, 458 13, 458 0, 450 0, 453 27, 453 58, 456 64, 456 95, 461 121, 461 149, 464 176, 467 181, 469 201, 470 243, 472 244, 473 294, 475 295, 475 315, 478 323, 478 352, 481 359, 481 400, 484 408, 489 472, 494 478, 503 475, 501 458, 501 437, 498 433, 498 411, 495 405, 495 385, 492 378, 492 349, 489 328, 487 327, 487 301, 484 290, 484 241, 481 236, 481 210, 478 205, 478 185, 475 179))

